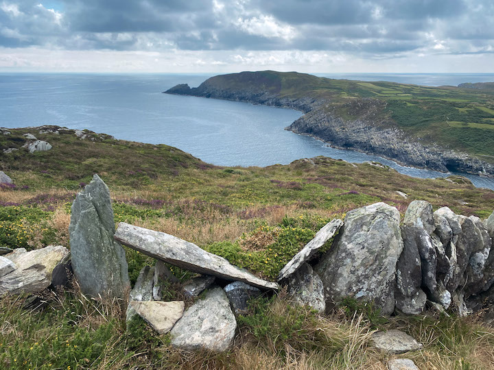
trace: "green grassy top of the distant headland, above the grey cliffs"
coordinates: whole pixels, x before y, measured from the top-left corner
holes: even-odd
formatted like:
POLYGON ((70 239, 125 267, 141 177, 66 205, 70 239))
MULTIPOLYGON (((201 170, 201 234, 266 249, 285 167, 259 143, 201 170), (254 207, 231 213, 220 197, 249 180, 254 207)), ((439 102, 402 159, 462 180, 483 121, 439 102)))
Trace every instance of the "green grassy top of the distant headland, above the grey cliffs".
POLYGON ((329 99, 329 109, 344 119, 356 119, 362 114, 351 103, 353 100, 379 99, 386 102, 386 108, 375 117, 375 124, 396 125, 413 138, 494 162, 493 90, 362 82, 274 71, 222 75, 211 81, 226 89, 258 89, 280 97, 329 99))

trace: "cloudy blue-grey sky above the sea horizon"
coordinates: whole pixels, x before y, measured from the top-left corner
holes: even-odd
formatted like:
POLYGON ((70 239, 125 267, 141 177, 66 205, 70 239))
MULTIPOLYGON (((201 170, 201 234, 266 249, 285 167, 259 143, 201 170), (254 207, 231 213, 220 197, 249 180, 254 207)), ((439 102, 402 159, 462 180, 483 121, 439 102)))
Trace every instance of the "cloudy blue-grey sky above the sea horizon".
POLYGON ((494 73, 493 0, 0 0, 0 71, 494 73))

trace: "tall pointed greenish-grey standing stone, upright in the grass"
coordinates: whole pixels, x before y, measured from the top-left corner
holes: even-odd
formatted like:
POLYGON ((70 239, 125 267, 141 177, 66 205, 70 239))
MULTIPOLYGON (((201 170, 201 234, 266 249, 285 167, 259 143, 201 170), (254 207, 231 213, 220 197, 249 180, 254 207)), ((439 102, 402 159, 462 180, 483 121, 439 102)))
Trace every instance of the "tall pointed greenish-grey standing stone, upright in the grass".
POLYGON ((125 299, 130 291, 128 265, 124 248, 113 239, 115 221, 108 186, 94 175, 71 209, 72 268, 82 293, 125 299))

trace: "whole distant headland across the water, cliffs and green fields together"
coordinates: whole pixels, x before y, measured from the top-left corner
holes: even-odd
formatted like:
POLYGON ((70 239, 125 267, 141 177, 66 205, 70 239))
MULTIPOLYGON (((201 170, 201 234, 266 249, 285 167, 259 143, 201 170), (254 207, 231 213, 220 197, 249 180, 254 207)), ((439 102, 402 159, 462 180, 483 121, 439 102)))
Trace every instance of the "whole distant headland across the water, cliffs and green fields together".
POLYGON ((292 108, 287 130, 408 166, 494 176, 494 83, 419 86, 242 72, 165 91, 292 108))

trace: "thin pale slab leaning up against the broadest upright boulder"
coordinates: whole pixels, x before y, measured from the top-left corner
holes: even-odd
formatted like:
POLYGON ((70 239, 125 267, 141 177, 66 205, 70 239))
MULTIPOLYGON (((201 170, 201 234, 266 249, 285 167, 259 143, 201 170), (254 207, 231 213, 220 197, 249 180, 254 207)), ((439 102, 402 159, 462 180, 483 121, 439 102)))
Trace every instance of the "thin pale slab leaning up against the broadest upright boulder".
POLYGON ((302 248, 301 251, 299 251, 290 262, 285 264, 285 267, 281 269, 278 275, 278 281, 281 281, 283 279, 286 279, 292 273, 295 273, 298 269, 301 268, 301 266, 310 260, 314 254, 323 246, 325 243, 331 239, 335 234, 340 230, 340 227, 342 227, 343 221, 340 219, 334 219, 327 223, 324 227, 322 227, 314 236, 314 239, 309 241, 305 245, 305 247, 302 248))

